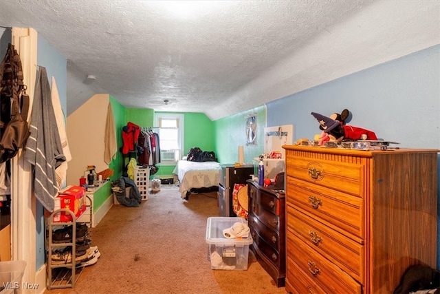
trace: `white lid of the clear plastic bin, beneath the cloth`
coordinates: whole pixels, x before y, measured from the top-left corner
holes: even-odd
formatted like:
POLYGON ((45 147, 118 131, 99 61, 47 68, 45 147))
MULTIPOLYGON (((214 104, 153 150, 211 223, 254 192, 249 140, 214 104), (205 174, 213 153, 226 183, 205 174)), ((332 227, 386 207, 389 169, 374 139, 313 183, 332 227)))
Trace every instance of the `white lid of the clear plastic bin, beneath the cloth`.
POLYGON ((243 239, 228 239, 223 236, 223 230, 232 227, 236 222, 248 224, 244 218, 210 217, 206 222, 206 243, 216 245, 250 245, 252 236, 243 239))

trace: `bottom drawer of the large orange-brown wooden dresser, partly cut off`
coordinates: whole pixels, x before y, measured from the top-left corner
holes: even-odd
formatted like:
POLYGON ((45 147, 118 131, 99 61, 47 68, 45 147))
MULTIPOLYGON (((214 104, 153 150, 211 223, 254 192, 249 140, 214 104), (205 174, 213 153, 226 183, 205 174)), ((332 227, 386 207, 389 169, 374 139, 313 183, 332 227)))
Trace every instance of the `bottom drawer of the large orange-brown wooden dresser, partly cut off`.
POLYGON ((327 291, 323 290, 319 284, 311 279, 303 270, 300 269, 292 258, 287 257, 287 271, 286 284, 292 284, 294 293, 298 294, 327 294, 327 291))

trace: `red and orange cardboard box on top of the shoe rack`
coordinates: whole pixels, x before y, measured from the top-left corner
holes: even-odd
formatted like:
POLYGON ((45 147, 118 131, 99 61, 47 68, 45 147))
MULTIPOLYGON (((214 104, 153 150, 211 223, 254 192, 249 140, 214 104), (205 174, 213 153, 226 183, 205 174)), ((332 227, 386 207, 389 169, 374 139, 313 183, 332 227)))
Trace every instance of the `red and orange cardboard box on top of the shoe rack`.
MULTIPOLYGON (((80 186, 68 186, 58 192, 55 198, 55 211, 57 209, 69 209, 79 218, 86 210, 86 189, 80 186)), ((54 222, 72 222, 70 213, 60 211, 54 214, 54 222)))

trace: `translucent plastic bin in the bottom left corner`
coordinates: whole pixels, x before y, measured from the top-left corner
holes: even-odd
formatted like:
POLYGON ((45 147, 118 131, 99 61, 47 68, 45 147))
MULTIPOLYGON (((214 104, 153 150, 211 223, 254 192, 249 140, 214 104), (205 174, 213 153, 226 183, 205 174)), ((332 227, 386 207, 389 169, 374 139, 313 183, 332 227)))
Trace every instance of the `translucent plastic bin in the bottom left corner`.
POLYGON ((0 293, 21 293, 21 278, 25 273, 26 262, 24 260, 12 260, 0 262, 0 293))

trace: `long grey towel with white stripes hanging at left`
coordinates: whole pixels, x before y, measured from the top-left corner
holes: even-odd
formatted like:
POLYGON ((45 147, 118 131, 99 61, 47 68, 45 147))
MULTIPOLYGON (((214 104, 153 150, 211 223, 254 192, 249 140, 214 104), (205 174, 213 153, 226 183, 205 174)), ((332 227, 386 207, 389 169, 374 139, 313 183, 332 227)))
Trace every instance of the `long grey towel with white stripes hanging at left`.
POLYGON ((45 209, 54 211, 58 194, 55 169, 65 162, 63 147, 56 126, 50 85, 45 67, 40 67, 34 102, 32 104, 31 132, 24 158, 34 166, 34 194, 45 209))

